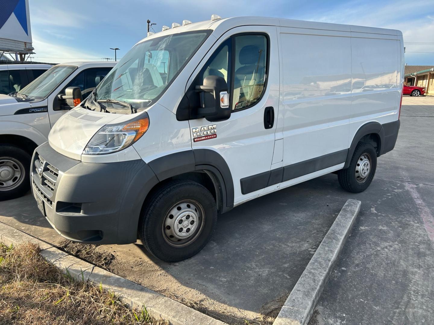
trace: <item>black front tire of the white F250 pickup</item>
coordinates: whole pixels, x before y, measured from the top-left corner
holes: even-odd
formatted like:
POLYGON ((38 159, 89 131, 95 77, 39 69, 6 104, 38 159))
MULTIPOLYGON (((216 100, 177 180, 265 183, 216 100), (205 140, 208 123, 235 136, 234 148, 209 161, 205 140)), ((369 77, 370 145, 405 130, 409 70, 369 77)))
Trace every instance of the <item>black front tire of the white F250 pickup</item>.
POLYGON ((7 185, 9 182, 13 182, 15 177, 7 181, 0 178, 0 201, 19 198, 30 189, 30 159, 30 155, 23 149, 7 144, 0 144, 0 173, 2 169, 4 171, 3 174, 10 174, 11 170, 12 172, 15 172, 17 169, 21 170, 15 184, 7 185), (12 165, 12 167, 9 165, 12 165))

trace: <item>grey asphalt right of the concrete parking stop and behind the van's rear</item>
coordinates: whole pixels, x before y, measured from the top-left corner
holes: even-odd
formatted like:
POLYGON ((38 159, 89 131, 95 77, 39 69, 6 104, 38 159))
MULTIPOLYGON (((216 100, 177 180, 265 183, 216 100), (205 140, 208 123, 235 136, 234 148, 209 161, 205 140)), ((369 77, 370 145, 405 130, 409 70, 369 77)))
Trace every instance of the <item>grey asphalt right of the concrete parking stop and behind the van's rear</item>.
POLYGON ((378 159, 376 195, 360 196, 319 324, 434 324, 434 97, 403 104, 413 105, 402 106, 395 149, 378 159))

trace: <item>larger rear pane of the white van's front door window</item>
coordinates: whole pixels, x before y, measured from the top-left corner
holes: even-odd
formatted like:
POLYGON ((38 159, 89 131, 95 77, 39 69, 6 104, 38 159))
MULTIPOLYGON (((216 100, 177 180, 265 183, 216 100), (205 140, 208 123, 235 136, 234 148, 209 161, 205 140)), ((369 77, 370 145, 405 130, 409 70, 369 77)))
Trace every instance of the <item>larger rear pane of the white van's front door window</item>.
POLYGON ((253 105, 260 99, 266 81, 266 65, 266 36, 252 34, 235 36, 233 110, 253 105))

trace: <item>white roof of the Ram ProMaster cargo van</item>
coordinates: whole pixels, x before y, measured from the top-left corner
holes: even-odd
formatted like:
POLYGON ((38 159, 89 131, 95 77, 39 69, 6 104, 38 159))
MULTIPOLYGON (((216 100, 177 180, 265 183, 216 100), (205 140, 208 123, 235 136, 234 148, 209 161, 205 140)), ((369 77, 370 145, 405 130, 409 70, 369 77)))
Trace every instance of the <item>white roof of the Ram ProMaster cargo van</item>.
MULTIPOLYGON (((231 18, 221 18, 219 20, 206 20, 198 23, 191 23, 184 26, 178 26, 164 31, 155 33, 142 39, 143 42, 147 39, 152 39, 154 37, 160 37, 164 35, 170 35, 175 33, 182 33, 193 30, 203 30, 203 29, 222 29, 222 33, 226 30, 237 26, 248 26, 248 25, 264 25, 264 26, 281 26, 281 27, 293 27, 293 28, 304 28, 304 29, 324 29, 342 32, 354 32, 354 33, 371 33, 371 34, 383 34, 383 35, 394 35, 401 36, 402 33, 395 29, 385 29, 376 27, 366 27, 366 26, 355 26, 355 25, 344 25, 344 24, 334 24, 334 23, 319 23, 306 20, 293 20, 293 19, 282 19, 282 18, 272 18, 272 17, 260 17, 260 16, 242 16, 242 17, 231 17, 231 18)), ((138 42, 138 43, 140 43, 138 42)))

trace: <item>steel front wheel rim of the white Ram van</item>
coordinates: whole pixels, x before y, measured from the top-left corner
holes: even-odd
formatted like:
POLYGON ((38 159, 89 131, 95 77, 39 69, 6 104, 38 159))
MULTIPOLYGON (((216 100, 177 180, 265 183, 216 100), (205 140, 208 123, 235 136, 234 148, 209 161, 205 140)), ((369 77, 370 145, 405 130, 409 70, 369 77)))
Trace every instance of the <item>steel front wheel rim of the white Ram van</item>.
POLYGON ((191 244, 201 234, 205 213, 194 200, 182 200, 172 205, 164 216, 162 232, 166 242, 174 247, 191 244))

